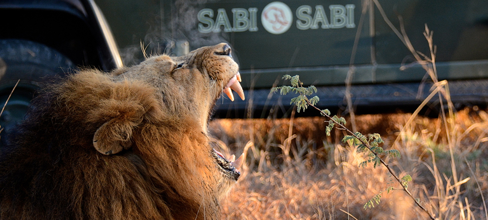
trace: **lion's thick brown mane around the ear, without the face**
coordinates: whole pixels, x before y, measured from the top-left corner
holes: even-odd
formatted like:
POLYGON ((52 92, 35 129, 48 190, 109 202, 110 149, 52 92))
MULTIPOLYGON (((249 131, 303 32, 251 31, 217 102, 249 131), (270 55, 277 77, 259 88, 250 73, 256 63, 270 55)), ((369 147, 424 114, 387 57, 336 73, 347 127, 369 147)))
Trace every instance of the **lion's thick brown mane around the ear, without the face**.
POLYGON ((144 84, 127 82, 118 99, 115 87, 85 71, 36 101, 17 151, 0 164, 0 219, 219 218, 221 180, 208 166, 199 121, 163 111, 144 84), (101 121, 141 109, 132 149, 111 156, 93 149, 101 121))

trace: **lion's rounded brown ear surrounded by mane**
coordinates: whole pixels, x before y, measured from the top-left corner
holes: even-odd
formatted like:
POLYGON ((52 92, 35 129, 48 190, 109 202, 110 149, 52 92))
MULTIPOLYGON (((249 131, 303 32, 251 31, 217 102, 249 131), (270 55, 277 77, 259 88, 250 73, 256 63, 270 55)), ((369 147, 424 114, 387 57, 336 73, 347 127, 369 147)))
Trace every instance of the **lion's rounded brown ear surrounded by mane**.
POLYGON ((132 130, 137 123, 112 119, 100 126, 93 136, 93 146, 104 154, 111 155, 132 146, 132 130))

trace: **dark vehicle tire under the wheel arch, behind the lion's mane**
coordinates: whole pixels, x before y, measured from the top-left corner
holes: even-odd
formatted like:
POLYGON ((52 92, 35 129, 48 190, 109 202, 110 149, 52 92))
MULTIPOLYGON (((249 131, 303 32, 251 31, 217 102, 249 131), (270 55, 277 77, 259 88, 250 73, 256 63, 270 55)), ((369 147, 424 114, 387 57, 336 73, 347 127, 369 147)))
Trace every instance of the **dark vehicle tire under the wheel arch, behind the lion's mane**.
POLYGON ((0 116, 0 145, 24 118, 34 92, 56 75, 65 75, 76 66, 58 51, 28 40, 0 40, 0 109, 15 88, 0 116))

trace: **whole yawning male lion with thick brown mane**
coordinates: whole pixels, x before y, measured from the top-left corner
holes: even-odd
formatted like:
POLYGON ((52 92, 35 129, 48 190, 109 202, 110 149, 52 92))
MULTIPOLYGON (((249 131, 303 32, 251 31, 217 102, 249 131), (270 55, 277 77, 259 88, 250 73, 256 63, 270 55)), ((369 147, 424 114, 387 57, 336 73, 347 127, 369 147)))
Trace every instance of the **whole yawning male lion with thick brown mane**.
POLYGON ((0 219, 220 219, 244 155, 207 124, 222 92, 244 100, 238 70, 221 43, 47 86, 2 147, 0 219))

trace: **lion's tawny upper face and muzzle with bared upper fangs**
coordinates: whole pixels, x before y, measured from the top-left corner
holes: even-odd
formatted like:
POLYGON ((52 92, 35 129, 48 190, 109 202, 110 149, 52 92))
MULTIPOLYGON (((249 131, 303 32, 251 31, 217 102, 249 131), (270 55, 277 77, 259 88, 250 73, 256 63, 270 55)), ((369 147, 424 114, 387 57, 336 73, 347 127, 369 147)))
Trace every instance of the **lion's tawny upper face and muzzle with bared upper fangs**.
POLYGON ((206 132, 209 113, 222 92, 234 100, 231 89, 244 100, 239 67, 229 45, 203 47, 182 57, 157 56, 123 71, 119 80, 141 80, 153 85, 171 114, 191 114, 206 132), (141 74, 143 73, 143 74, 141 74))

